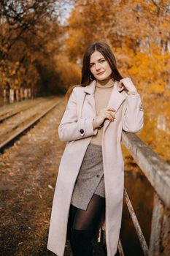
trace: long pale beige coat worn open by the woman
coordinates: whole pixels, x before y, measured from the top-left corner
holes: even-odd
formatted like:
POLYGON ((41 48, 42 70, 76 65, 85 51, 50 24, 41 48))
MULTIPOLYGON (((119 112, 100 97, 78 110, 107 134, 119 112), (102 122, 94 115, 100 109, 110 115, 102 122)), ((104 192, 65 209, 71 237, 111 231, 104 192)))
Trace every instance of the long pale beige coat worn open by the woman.
MULTIPOLYGON (((59 138, 66 141, 66 148, 58 170, 47 242, 47 249, 58 256, 63 256, 65 249, 69 207, 82 159, 91 136, 98 132, 98 129, 93 130, 93 118, 96 117, 95 87, 96 80, 93 80, 89 86, 73 89, 58 127, 59 138)), ((114 256, 123 210, 124 161, 120 140, 122 130, 139 132, 142 129, 143 111, 140 95, 128 95, 124 90, 120 92, 117 81, 107 106, 116 110, 115 121, 105 119, 102 136, 106 198, 104 226, 107 256, 114 256)))

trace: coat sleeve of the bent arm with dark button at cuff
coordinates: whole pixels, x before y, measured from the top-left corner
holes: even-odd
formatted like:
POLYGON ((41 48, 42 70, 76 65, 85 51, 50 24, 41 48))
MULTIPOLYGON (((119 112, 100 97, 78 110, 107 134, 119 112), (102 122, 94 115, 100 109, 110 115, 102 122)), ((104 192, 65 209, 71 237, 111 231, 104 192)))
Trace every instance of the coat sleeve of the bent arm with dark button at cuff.
POLYGON ((58 126, 58 136, 61 141, 71 141, 96 135, 98 129, 93 129, 93 118, 77 118, 76 87, 66 105, 66 109, 58 126))

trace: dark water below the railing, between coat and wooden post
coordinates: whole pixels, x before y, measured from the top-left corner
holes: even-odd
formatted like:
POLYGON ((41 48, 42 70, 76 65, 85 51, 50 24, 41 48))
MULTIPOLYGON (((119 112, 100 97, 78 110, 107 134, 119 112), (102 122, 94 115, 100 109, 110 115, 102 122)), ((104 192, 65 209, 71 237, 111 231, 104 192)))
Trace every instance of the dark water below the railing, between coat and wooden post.
MULTIPOLYGON (((149 246, 154 190, 140 170, 125 171, 125 189, 128 192, 128 197, 131 200, 139 225, 142 228, 147 246, 149 246)), ((136 235, 134 223, 128 212, 125 198, 123 201, 123 219, 120 229, 120 240, 123 244, 125 256, 144 255, 139 243, 139 238, 136 235)))

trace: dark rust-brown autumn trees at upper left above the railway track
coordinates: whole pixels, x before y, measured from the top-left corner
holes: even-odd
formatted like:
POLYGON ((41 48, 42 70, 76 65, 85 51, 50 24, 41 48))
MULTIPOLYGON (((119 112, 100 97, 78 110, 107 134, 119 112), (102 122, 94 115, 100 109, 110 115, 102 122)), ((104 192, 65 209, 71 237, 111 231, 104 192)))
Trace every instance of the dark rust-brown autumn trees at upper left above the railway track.
POLYGON ((55 56, 64 35, 61 7, 68 1, 0 2, 0 88, 65 91, 55 56))

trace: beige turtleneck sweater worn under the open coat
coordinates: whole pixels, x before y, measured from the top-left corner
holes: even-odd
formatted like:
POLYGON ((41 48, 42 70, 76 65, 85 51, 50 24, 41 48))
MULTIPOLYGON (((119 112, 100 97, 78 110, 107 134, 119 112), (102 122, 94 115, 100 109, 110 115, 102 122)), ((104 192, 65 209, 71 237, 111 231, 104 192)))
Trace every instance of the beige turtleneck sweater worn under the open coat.
MULTIPOLYGON (((114 85, 112 86, 96 85, 96 89, 94 92, 94 99, 96 102, 97 116, 102 108, 107 108, 107 104, 109 102, 109 97, 112 92, 113 86, 114 85)), ((93 137, 90 140, 90 143, 101 145, 102 132, 103 132, 103 127, 98 127, 98 132, 96 135, 93 135, 93 137)))

